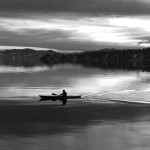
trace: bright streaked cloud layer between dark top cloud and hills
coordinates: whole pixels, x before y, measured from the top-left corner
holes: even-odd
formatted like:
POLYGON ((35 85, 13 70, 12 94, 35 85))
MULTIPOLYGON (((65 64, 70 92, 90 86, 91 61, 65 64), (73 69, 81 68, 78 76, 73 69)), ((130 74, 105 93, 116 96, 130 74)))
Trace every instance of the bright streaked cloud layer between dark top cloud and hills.
POLYGON ((149 37, 149 25, 148 17, 84 17, 76 20, 3 17, 0 18, 0 43, 67 50, 135 47, 139 40, 149 37))

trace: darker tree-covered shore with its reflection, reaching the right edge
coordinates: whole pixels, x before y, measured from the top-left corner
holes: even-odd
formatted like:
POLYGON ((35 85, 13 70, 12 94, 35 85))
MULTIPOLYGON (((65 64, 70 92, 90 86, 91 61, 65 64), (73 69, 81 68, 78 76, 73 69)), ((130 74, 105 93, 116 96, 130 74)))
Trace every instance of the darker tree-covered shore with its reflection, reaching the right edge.
POLYGON ((125 50, 102 49, 54 56, 47 54, 41 60, 48 65, 53 63, 74 63, 104 69, 140 69, 150 71, 149 47, 125 50))

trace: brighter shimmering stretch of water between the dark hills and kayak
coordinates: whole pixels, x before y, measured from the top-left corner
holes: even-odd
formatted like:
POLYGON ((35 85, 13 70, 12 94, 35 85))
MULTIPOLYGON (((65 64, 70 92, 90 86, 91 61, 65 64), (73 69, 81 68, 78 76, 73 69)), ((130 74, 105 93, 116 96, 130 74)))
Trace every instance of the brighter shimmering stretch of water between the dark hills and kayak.
POLYGON ((0 97, 38 97, 61 93, 80 94, 87 100, 147 101, 149 73, 108 71, 75 65, 0 67, 0 97))

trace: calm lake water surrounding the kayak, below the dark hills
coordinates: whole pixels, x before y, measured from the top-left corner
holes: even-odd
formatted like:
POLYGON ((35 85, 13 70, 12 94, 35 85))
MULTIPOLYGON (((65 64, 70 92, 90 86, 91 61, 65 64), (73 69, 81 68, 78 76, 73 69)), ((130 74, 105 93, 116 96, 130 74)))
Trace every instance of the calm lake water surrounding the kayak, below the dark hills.
POLYGON ((149 72, 0 66, 0 149, 149 149, 150 107, 111 101, 149 98, 149 72), (83 98, 38 102, 62 89, 83 98))

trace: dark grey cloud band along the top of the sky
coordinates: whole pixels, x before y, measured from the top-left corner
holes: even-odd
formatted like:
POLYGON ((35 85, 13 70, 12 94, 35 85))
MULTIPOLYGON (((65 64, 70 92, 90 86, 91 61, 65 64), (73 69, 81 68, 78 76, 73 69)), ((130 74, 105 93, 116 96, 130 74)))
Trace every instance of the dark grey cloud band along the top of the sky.
POLYGON ((150 14, 140 0, 0 0, 0 12, 72 12, 93 14, 150 14))

